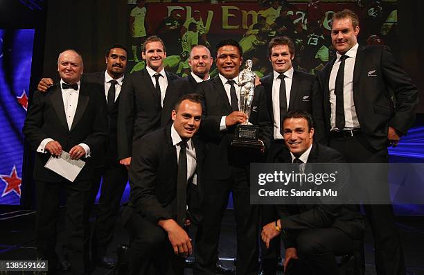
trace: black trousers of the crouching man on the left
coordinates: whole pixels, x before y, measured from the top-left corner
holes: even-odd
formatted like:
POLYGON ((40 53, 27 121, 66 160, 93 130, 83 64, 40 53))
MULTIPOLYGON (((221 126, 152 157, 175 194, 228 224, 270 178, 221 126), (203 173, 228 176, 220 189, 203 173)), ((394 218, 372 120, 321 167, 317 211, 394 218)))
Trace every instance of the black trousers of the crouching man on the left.
POLYGON ((135 211, 125 222, 131 245, 128 275, 183 275, 184 258, 174 254, 168 233, 135 211))

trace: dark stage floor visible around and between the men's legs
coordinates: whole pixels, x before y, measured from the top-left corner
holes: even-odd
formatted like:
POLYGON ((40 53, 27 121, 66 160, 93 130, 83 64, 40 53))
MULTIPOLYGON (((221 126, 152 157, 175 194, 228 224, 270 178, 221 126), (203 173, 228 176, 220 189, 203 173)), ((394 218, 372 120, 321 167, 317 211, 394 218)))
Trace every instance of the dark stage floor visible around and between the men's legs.
MULTIPOLYGON (((58 223, 58 247, 56 249, 59 255, 61 246, 64 243, 64 209, 62 209, 61 213, 61 220, 58 223)), ((20 215, 15 218, 6 217, 6 215, 1 215, 0 217, 0 260, 35 259, 35 213, 26 211, 19 214, 20 215)), ((405 252, 405 261, 408 274, 424 275, 424 218, 397 216, 396 222, 398 228, 400 229, 401 238, 403 240, 403 250, 405 252)), ((94 224, 94 218, 91 220, 91 224, 94 224)), ((222 259, 222 263, 226 266, 233 266, 232 259, 236 255, 235 230, 233 211, 228 209, 222 222, 222 233, 219 249, 219 255, 222 259)), ((195 230, 191 232, 191 235, 194 233, 195 230)), ((127 242, 127 235, 125 229, 122 227, 121 219, 118 219, 118 222, 116 222, 115 238, 110 248, 111 255, 116 256, 117 245, 125 242, 127 242)), ((376 274, 373 256, 373 237, 371 229, 368 225, 366 226, 364 244, 366 275, 376 274)), ((62 274, 71 274, 71 272, 63 272, 62 274)), ((112 274, 112 271, 109 269, 100 269, 97 267, 92 274, 112 274)), ((190 269, 188 269, 186 270, 185 274, 193 273, 190 269)))

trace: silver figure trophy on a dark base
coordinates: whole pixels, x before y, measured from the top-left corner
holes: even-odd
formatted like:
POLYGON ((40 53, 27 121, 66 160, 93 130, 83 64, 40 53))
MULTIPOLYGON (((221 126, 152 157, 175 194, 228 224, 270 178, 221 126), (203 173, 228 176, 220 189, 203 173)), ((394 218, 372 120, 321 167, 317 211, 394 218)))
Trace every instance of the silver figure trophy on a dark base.
POLYGON ((263 143, 259 141, 258 133, 259 127, 252 125, 249 122, 251 115, 251 103, 255 94, 255 78, 256 73, 251 70, 253 62, 247 60, 245 69, 238 74, 238 86, 241 87, 240 91, 240 112, 244 112, 247 116, 245 123, 236 126, 236 133, 234 134, 232 146, 242 148, 262 148, 263 143))

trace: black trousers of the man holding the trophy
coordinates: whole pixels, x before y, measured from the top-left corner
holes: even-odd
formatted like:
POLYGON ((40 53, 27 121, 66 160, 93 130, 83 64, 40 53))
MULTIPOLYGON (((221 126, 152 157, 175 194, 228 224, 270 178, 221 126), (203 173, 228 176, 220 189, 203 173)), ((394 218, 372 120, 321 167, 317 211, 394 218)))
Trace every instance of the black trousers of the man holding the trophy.
POLYGON ((204 177, 203 220, 197 229, 194 274, 215 274, 222 217, 233 194, 237 233, 237 274, 258 274, 258 206, 250 204, 249 171, 231 168, 226 180, 204 177))

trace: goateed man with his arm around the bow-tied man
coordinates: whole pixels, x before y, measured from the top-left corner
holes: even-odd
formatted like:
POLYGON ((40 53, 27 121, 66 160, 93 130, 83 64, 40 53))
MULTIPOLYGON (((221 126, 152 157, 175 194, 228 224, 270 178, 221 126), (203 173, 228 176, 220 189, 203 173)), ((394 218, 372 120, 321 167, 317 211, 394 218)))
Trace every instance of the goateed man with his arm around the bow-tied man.
MULTIPOLYGON (((102 188, 97 209, 96 226, 93 234, 91 258, 100 267, 112 268, 114 258, 107 256, 107 248, 114 237, 116 217, 118 215, 121 197, 128 181, 127 168, 118 161, 118 106, 121 98, 121 87, 127 66, 127 49, 121 44, 113 44, 105 54, 106 70, 82 75, 83 82, 98 85, 107 100, 107 121, 109 125, 109 147, 104 152, 105 168, 103 171, 102 188)), ((43 78, 37 89, 45 92, 53 85, 53 80, 43 78)), ((93 196, 98 193, 98 184, 93 186, 93 196)), ((94 200, 93 197, 93 200, 94 200)), ((66 259, 66 254, 64 255, 66 259)), ((62 269, 69 269, 69 261, 62 261, 62 269)))

